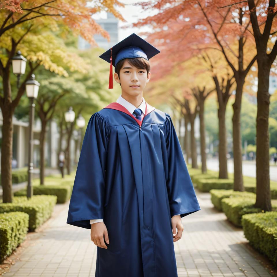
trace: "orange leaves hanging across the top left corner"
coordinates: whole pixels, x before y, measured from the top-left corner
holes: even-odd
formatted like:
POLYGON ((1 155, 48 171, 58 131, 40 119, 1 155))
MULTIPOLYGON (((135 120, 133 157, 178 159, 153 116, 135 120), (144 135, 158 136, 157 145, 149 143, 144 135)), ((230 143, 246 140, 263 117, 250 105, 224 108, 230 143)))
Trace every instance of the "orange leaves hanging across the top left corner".
MULTIPOLYGON (((91 17, 106 11, 123 20, 115 5, 123 7, 118 0, 6 0, 0 4, 0 35, 28 20, 51 18, 57 25, 66 25, 73 33, 80 34, 91 45, 96 44, 93 35, 100 34, 110 40, 107 31, 91 17), (5 22, 6 20, 6 22, 5 22), (16 23, 16 24, 15 24, 16 23)), ((48 19, 49 20, 49 19, 48 19)))

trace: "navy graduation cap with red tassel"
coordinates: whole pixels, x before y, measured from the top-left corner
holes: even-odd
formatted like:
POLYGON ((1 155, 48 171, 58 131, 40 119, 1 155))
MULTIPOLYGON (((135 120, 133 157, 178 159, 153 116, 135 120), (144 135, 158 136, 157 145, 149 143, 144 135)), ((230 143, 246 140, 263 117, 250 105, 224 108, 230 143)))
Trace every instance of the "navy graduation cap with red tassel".
POLYGON ((110 63, 109 89, 113 88, 113 66, 115 66, 119 61, 126 58, 138 57, 144 58, 148 61, 158 53, 160 53, 160 50, 135 33, 132 33, 132 35, 129 35, 127 38, 121 40, 119 43, 115 44, 112 48, 100 55, 99 58, 110 63))

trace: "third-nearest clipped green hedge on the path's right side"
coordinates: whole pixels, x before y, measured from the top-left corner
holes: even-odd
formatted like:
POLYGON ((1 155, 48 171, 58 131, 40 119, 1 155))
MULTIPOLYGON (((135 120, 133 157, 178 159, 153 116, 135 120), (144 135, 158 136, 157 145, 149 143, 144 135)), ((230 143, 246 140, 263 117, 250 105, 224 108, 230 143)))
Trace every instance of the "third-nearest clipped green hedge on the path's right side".
POLYGON ((256 194, 246 191, 234 191, 234 190, 225 190, 225 189, 212 189, 210 190, 211 200, 216 209, 222 211, 221 200, 229 197, 248 197, 255 198, 256 194))

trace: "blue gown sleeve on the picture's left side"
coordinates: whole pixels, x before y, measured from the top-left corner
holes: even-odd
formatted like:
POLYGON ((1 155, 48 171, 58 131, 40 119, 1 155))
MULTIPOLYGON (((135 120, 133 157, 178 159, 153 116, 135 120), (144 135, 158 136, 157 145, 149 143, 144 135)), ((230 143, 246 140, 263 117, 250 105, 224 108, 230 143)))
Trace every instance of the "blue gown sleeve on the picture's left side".
POLYGON ((96 112, 87 124, 68 209, 68 224, 90 229, 104 218, 106 157, 110 127, 96 112))

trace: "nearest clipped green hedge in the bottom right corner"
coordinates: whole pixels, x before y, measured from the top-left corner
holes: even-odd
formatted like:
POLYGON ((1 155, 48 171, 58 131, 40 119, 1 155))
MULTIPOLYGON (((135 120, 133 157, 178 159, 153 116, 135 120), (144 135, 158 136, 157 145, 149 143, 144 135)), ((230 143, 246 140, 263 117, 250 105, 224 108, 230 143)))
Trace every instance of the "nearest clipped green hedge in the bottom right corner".
POLYGON ((242 228, 249 244, 277 266, 277 212, 245 214, 242 228))

